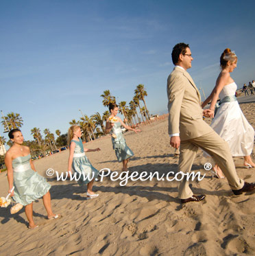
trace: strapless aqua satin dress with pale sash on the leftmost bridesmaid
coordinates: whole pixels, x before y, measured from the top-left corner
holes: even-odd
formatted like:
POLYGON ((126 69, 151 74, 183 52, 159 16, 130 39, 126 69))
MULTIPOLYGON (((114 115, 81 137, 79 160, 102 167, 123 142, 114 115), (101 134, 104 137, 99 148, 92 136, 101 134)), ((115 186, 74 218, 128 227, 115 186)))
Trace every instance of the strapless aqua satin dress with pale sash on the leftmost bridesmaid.
POLYGON ((51 188, 46 178, 32 170, 31 155, 19 156, 12 160, 14 200, 21 205, 29 205, 44 196, 51 188))

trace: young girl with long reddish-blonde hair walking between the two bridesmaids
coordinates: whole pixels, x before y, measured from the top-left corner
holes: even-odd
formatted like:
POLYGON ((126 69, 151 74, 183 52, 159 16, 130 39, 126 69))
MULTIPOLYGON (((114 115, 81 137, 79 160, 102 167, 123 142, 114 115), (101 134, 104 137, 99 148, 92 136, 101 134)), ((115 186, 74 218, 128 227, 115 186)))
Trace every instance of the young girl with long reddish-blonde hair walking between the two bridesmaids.
POLYGON ((68 130, 67 144, 69 147, 68 172, 73 171, 76 175, 77 183, 87 185, 87 199, 96 198, 99 194, 92 191, 95 178, 99 175, 99 171, 95 169, 88 160, 85 152, 99 151, 100 148, 89 150, 84 148, 82 144, 82 131, 80 126, 73 125, 68 130))

